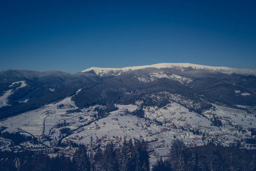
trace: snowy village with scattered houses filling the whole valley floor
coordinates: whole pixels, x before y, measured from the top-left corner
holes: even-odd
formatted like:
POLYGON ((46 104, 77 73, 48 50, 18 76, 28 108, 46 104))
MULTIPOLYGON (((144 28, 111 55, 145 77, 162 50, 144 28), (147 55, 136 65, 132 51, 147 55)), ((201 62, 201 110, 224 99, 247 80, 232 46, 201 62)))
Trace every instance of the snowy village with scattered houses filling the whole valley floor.
POLYGON ((129 139, 144 140, 151 160, 166 157, 175 139, 187 147, 214 143, 223 146, 255 148, 246 139, 255 139, 255 117, 241 109, 215 107, 202 114, 190 112, 178 103, 166 107, 144 108, 144 118, 131 115, 136 105, 117 105, 119 109, 97 118, 100 106, 77 110, 70 98, 41 109, 0 122, 1 131, 18 132, 33 139, 11 146, 0 139, 0 150, 31 150, 49 156, 65 154, 72 157, 78 144, 104 150, 108 144, 120 148, 129 139), (91 138, 92 137, 92 138, 91 138))

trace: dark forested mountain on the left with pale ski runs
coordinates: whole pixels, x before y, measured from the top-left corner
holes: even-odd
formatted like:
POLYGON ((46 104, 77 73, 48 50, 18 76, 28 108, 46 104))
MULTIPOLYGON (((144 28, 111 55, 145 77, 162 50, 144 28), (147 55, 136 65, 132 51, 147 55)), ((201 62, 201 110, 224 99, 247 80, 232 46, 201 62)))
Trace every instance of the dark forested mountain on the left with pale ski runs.
POLYGON ((2 71, 0 119, 71 96, 84 85, 94 84, 100 80, 98 76, 89 72, 69 74, 61 71, 2 71))

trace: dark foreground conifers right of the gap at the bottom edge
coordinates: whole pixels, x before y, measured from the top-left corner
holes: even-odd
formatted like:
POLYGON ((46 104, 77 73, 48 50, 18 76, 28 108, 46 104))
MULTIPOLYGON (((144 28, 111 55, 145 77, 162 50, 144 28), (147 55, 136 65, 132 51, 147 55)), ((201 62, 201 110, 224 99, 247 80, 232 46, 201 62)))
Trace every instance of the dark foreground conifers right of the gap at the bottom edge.
POLYGON ((256 150, 212 143, 186 148, 183 141, 175 140, 168 158, 157 160, 152 170, 256 170, 256 150))

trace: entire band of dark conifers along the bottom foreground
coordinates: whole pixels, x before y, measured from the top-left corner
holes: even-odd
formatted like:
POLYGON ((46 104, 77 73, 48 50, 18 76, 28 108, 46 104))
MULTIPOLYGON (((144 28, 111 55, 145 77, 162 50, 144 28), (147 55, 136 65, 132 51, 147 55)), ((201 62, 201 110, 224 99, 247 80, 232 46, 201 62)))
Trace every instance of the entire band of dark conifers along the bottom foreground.
POLYGON ((256 170, 256 150, 225 147, 214 144, 186 148, 175 140, 168 157, 159 158, 149 168, 149 154, 144 141, 124 141, 121 148, 113 144, 90 150, 79 145, 73 157, 49 157, 44 153, 0 152, 0 170, 256 170))

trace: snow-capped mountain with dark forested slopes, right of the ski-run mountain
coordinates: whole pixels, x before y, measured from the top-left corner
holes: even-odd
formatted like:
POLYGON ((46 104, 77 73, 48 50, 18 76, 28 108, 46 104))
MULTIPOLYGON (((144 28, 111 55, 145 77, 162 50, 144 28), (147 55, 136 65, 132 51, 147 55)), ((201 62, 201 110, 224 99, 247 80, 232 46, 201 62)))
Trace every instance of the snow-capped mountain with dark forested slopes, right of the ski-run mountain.
POLYGON ((78 104, 80 107, 96 103, 128 104, 135 101, 162 106, 172 100, 195 109, 195 105, 190 106, 186 104, 186 100, 181 100, 187 99, 197 104, 199 112, 202 112, 204 106, 210 106, 210 103, 234 106, 255 105, 256 102, 255 70, 161 63, 125 68, 93 67, 82 71, 86 72, 92 72, 105 81, 90 90, 82 90, 73 98, 79 101, 79 96, 83 96, 84 100, 78 104), (90 99, 86 95, 92 92, 97 93, 90 99), (108 96, 99 92, 107 92, 108 96))

